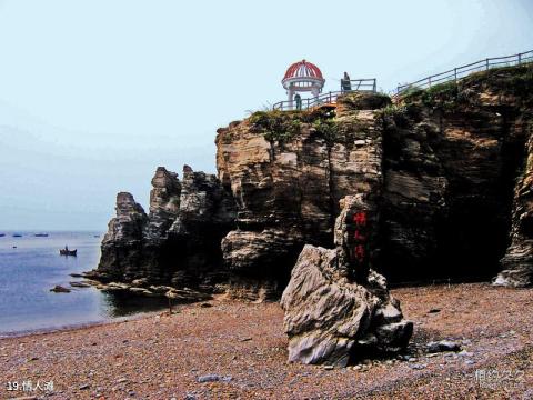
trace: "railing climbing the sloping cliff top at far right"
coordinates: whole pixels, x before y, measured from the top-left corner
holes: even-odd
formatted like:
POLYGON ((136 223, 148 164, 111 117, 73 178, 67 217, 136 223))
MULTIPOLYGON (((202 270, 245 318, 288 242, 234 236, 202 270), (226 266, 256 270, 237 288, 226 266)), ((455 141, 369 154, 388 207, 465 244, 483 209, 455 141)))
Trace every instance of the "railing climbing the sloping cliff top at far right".
POLYGON ((394 97, 398 97, 411 89, 428 89, 432 86, 445 83, 449 81, 459 81, 473 72, 486 71, 492 68, 512 67, 533 62, 533 50, 521 52, 513 56, 494 57, 472 62, 466 66, 457 67, 445 72, 436 73, 418 80, 416 82, 399 84, 394 97))

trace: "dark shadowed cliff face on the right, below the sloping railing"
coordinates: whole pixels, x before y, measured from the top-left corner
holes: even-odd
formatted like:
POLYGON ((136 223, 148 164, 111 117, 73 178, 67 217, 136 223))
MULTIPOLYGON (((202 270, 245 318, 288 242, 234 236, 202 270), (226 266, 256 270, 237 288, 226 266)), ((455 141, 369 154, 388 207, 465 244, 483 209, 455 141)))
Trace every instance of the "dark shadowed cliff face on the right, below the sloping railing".
POLYGON ((532 87, 531 67, 497 69, 413 92, 383 110, 386 277, 489 279, 504 256, 507 268, 523 262, 509 257, 522 234, 506 248, 513 188, 523 181, 533 129, 532 87))

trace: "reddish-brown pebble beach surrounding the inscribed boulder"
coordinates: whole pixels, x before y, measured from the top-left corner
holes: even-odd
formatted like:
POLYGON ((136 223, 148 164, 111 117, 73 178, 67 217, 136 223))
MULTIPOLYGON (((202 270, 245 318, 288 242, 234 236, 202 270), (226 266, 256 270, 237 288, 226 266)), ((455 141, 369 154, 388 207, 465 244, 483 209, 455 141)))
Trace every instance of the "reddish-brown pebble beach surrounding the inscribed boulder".
POLYGON ((533 398, 532 289, 472 283, 392 294, 415 327, 400 357, 343 369, 288 363, 280 306, 221 297, 172 314, 2 339, 0 398, 533 398), (433 340, 461 351, 429 353, 433 340))

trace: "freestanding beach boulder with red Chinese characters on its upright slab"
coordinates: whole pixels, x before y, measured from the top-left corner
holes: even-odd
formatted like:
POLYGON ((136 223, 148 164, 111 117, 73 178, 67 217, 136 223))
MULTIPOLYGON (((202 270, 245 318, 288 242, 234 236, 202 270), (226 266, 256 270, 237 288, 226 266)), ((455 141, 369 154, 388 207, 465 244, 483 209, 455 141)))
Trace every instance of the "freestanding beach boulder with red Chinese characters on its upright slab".
POLYGON ((289 361, 345 367, 370 351, 401 351, 411 338, 412 322, 371 269, 378 216, 365 197, 341 201, 336 249, 308 244, 292 270, 281 299, 289 361))

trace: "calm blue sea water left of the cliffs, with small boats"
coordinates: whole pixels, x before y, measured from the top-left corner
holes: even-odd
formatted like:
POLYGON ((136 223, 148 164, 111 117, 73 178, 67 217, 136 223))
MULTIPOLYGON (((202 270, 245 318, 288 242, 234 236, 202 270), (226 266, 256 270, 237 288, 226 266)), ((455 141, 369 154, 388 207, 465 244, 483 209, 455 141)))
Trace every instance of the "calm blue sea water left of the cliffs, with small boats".
POLYGON ((70 273, 97 267, 99 232, 7 232, 0 237, 0 337, 103 322, 164 307, 159 299, 103 293, 94 288, 71 288, 80 281, 70 273), (22 234, 21 238, 13 237, 22 234), (59 249, 78 249, 78 257, 61 257, 59 249), (61 284, 70 293, 50 289, 61 284))

